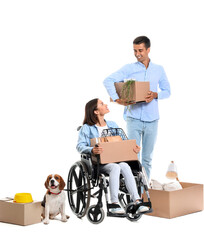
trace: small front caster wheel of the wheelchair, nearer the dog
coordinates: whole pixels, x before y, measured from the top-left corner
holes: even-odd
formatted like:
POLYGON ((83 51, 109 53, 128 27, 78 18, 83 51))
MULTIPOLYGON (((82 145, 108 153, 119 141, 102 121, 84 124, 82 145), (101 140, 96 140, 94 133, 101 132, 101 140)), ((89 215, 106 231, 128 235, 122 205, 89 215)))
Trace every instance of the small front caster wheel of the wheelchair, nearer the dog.
POLYGON ((101 223, 105 217, 103 208, 98 207, 97 205, 92 205, 87 211, 87 218, 93 224, 101 223))

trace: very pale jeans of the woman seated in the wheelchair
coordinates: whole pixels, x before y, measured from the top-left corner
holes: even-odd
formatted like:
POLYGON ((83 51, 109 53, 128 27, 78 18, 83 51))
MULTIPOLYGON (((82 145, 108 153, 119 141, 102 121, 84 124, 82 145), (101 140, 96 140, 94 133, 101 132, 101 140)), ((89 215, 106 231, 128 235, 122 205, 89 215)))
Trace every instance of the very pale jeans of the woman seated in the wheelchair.
POLYGON ((100 172, 105 172, 109 174, 109 186, 110 186, 110 196, 111 202, 118 202, 118 193, 120 187, 120 174, 124 177, 125 185, 133 201, 140 199, 138 195, 137 186, 135 178, 132 174, 130 166, 125 163, 108 163, 105 165, 100 165, 100 172))

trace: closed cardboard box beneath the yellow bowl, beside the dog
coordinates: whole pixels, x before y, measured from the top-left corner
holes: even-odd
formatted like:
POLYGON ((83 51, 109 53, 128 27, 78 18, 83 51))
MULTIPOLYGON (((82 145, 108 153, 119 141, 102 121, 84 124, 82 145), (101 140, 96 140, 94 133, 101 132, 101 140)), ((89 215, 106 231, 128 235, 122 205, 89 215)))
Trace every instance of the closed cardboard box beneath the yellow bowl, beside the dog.
POLYGON ((22 226, 41 222, 41 202, 14 203, 0 199, 0 222, 22 226))

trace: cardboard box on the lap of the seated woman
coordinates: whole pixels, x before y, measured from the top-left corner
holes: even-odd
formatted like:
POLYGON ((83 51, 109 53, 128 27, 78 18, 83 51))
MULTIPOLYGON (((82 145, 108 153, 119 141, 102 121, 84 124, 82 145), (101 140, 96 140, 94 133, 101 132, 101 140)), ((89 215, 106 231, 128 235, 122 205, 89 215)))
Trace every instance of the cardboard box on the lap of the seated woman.
MULTIPOLYGON (((92 146, 95 145, 96 139, 92 139, 92 146)), ((101 142, 100 146, 103 152, 100 154, 100 163, 114 163, 138 160, 137 154, 133 151, 136 140, 123 140, 118 142, 101 142)), ((96 158, 92 158, 96 161, 96 158)))

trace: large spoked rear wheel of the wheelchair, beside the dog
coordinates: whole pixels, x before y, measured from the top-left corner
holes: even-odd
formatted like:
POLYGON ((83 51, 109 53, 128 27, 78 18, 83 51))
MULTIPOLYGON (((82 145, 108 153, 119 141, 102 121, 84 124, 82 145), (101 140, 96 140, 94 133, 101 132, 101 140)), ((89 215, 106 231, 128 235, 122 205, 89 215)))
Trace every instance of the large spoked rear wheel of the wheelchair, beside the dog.
POLYGON ((77 217, 82 218, 90 204, 90 180, 86 165, 79 161, 69 170, 67 179, 67 194, 71 210, 77 217))

